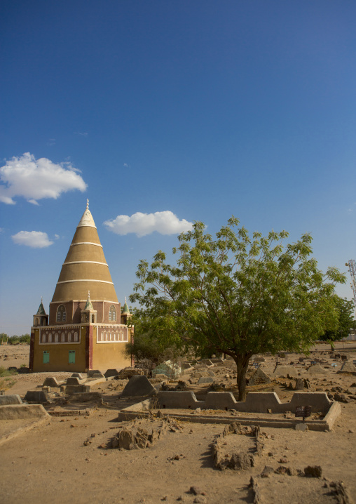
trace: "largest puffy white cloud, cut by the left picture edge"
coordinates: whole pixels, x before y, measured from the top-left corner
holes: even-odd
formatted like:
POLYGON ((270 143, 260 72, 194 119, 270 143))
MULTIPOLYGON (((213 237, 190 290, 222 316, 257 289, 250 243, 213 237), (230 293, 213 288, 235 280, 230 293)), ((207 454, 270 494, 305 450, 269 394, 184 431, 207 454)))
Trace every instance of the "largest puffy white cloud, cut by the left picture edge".
POLYGON ((37 200, 57 199, 62 192, 75 189, 84 192, 87 185, 77 172, 69 162, 55 164, 46 157, 35 159, 25 152, 1 166, 0 180, 4 185, 0 185, 0 201, 14 205, 13 197, 22 196, 37 205, 37 200))

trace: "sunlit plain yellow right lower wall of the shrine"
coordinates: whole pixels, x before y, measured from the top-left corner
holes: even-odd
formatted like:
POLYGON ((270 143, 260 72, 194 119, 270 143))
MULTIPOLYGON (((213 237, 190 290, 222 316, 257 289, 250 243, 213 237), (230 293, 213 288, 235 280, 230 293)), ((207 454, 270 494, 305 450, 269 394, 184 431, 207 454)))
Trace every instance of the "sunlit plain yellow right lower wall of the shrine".
POLYGON ((125 357, 126 343, 97 343, 97 327, 93 328, 93 369, 123 369, 131 366, 130 357, 125 357))

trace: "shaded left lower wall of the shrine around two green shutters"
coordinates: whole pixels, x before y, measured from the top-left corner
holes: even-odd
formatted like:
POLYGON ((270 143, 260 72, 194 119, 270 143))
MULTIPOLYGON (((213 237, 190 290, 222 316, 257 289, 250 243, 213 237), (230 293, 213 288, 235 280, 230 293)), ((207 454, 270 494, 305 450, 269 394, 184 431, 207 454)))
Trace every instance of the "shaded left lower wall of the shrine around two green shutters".
POLYGON ((39 329, 34 329, 34 373, 39 371, 85 371, 85 328, 80 343, 39 345, 39 329), (43 350, 50 352, 50 362, 43 364, 43 350), (75 364, 69 364, 69 350, 76 351, 75 364))

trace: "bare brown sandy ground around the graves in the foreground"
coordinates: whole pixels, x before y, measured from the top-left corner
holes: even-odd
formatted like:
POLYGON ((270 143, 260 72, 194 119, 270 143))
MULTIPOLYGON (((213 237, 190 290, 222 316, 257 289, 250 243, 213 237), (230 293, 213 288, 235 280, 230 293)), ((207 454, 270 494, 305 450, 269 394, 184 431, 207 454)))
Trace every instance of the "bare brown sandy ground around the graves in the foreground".
MULTIPOLYGON (((18 352, 16 357, 28 352, 28 347, 13 348, 18 352)), ((11 353, 9 347, 6 352, 4 347, 0 350, 2 354, 11 353)), ((327 350, 327 346, 319 350, 327 350)), ((356 348, 348 345, 346 350, 356 359, 356 348)), ((5 364, 3 359, 0 365, 5 364)), ((6 360, 7 366, 20 364, 21 358, 6 360), (15 364, 11 364, 13 361, 15 364)), ((272 366, 271 359, 263 369, 272 366)), ((50 376, 54 374, 69 375, 50 373, 50 376)), ((16 383, 6 393, 23 396, 27 390, 43 383, 44 376, 49 375, 15 376, 16 383)), ((356 388, 351 387, 355 381, 356 376, 338 375, 331 369, 327 375, 310 377, 313 390, 340 387, 350 394, 356 394, 356 388)), ((282 400, 288 400, 293 393, 283 383, 273 387, 282 400)), ((182 423, 181 430, 167 432, 150 449, 106 449, 120 425, 116 421, 117 411, 122 407, 120 387, 117 388, 113 382, 97 386, 103 393, 104 405, 90 416, 51 418, 2 444, 1 503, 253 503, 254 495, 249 488, 251 476, 259 475, 265 465, 277 469, 281 464, 299 470, 307 465, 320 465, 322 478, 273 474, 261 479, 263 503, 338 502, 325 486, 324 477, 329 481, 343 481, 349 496, 356 500, 354 400, 341 404, 342 414, 331 432, 261 429, 266 436, 255 467, 220 471, 214 468, 211 444, 224 425, 182 423), (83 444, 86 439, 92 440, 88 446, 83 444), (287 462, 280 463, 281 459, 287 462), (189 493, 191 486, 198 487, 200 495, 189 493)), ((203 388, 198 388, 197 393, 203 392, 203 388)), ((148 420, 139 421, 142 427, 148 426, 148 420)), ((11 425, 3 424, 3 428, 10 429, 11 425)))

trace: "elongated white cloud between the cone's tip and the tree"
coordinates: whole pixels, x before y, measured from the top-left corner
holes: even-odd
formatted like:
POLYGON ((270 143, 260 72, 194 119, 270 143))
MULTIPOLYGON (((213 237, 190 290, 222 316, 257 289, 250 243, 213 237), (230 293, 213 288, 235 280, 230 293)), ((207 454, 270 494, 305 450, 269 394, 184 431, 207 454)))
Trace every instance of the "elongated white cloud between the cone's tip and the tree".
POLYGON ((179 234, 189 231, 192 223, 188 220, 179 220, 169 210, 155 213, 137 212, 131 215, 118 215, 115 219, 106 220, 104 225, 108 230, 116 234, 136 233, 138 237, 144 237, 157 231, 160 234, 179 234))

